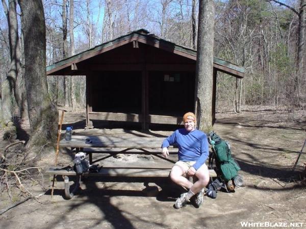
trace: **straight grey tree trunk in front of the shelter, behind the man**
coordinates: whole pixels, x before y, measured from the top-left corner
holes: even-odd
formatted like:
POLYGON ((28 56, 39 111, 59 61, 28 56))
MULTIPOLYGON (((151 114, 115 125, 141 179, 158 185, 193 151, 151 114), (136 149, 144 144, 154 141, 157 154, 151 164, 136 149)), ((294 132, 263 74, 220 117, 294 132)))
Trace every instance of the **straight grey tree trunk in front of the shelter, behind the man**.
POLYGON ((214 60, 214 16, 213 0, 199 1, 199 21, 196 61, 195 112, 197 126, 204 132, 212 126, 213 60, 214 60))

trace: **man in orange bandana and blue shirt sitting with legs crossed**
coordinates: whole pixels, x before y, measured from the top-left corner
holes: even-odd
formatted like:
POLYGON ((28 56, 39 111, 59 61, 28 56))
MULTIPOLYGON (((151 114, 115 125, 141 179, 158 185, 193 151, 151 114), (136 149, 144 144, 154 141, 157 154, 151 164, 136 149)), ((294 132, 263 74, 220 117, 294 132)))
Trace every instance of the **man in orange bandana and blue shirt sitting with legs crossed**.
POLYGON ((176 199, 175 208, 185 206, 194 195, 195 205, 199 207, 203 202, 203 188, 207 186, 210 179, 209 170, 205 164, 209 155, 208 140, 205 133, 195 129, 194 113, 187 112, 183 122, 185 128, 174 131, 163 141, 162 153, 167 158, 170 145, 175 144, 179 148, 179 161, 173 165, 170 178, 174 183, 185 187, 188 192, 176 199), (192 183, 186 176, 196 176, 198 180, 192 183))

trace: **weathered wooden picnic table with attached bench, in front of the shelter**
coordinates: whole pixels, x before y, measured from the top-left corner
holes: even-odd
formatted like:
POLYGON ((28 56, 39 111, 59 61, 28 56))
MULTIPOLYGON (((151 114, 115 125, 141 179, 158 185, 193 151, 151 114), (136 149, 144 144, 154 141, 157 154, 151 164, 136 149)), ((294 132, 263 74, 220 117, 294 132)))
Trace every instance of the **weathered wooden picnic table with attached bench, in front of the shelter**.
MULTIPOLYGON (((76 152, 84 152, 89 155, 89 162, 93 164, 97 161, 105 160, 116 154, 129 153, 129 154, 145 154, 154 155, 163 160, 170 162, 166 166, 150 166, 150 162, 146 166, 136 164, 136 166, 119 166, 114 164, 112 166, 102 166, 98 169, 97 173, 84 173, 83 176, 90 177, 168 177, 174 160, 164 158, 161 155, 161 144, 165 137, 144 137, 144 136, 89 136, 89 135, 72 135, 71 140, 67 141, 62 139, 59 146, 75 149, 76 152), (90 139, 90 143, 86 143, 86 139, 90 139), (131 150, 134 150, 131 152, 131 150), (136 152, 135 152, 136 150, 136 152), (129 151, 129 152, 128 152, 129 151), (93 154, 101 154, 102 158, 93 161, 93 154), (105 156, 107 154, 108 156, 105 156)), ((177 151, 170 147, 170 154, 177 154, 177 151), (172 150, 171 150, 172 149, 172 150)), ((210 176, 216 177, 213 169, 210 169, 210 176)), ((67 171, 63 168, 49 168, 46 171, 48 175, 64 177, 65 183, 65 196, 70 199, 74 193, 79 189, 81 175, 77 175, 73 170, 67 171), (75 187, 70 192, 69 177, 77 176, 75 187)))

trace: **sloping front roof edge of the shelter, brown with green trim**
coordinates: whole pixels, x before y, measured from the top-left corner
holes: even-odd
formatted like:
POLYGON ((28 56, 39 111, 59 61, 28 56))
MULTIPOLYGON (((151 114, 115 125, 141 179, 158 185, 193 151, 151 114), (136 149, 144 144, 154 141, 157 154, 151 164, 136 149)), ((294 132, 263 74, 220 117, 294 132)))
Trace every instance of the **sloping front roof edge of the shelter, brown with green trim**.
MULTIPOLYGON (((97 46, 95 46, 91 49, 85 50, 85 51, 80 52, 78 54, 75 54, 73 56, 70 56, 69 58, 63 59, 63 60, 61 60, 57 63, 54 63, 53 65, 47 66, 47 68, 46 68, 47 74, 48 74, 48 71, 55 70, 57 68, 58 68, 58 70, 60 70, 60 69, 62 69, 61 66, 65 65, 65 64, 76 62, 76 61, 78 61, 78 59, 81 59, 81 58, 86 59, 87 55, 89 56, 88 58, 90 58, 90 57, 92 57, 92 55, 94 55, 95 52, 97 52, 97 54, 99 54, 99 51, 101 51, 105 48, 108 48, 108 47, 113 46, 113 45, 115 45, 119 42, 129 40, 129 39, 132 39, 132 38, 135 38, 135 37, 141 38, 141 39, 144 39, 144 40, 149 39, 150 41, 153 41, 157 44, 158 43, 159 44, 163 43, 166 46, 168 45, 168 46, 174 47, 174 50, 184 52, 184 53, 189 54, 190 56, 193 56, 192 59, 196 58, 196 51, 195 50, 184 47, 184 46, 181 46, 181 45, 177 45, 173 42, 170 42, 170 41, 167 41, 167 40, 164 40, 164 39, 161 39, 154 34, 150 34, 147 30, 140 29, 140 30, 133 31, 133 32, 130 32, 128 34, 125 34, 123 36, 120 36, 120 37, 118 37, 114 40, 111 40, 111 41, 105 42, 103 44, 97 45, 97 46)), ((238 65, 235 65, 231 62, 228 62, 228 61, 225 61, 225 60, 222 60, 222 59, 219 59, 219 58, 214 58, 214 64, 219 65, 219 66, 224 66, 224 67, 226 67, 230 70, 234 70, 238 73, 238 75, 240 77, 243 77, 244 72, 245 72, 245 69, 243 67, 240 67, 238 65)), ((223 71, 226 72, 226 70, 224 70, 224 68, 223 68, 223 71)), ((235 73, 232 73, 232 74, 235 75, 235 73)))

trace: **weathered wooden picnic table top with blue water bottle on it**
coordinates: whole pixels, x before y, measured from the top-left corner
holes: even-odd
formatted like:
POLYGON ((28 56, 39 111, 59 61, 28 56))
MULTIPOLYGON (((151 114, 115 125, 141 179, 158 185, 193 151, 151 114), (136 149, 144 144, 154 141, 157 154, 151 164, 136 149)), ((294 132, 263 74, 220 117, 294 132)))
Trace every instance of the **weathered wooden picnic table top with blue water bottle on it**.
POLYGON ((71 148, 160 149, 164 139, 165 137, 72 135, 71 140, 62 139, 59 146, 71 148), (86 138, 90 138, 92 142, 86 144, 86 138))

